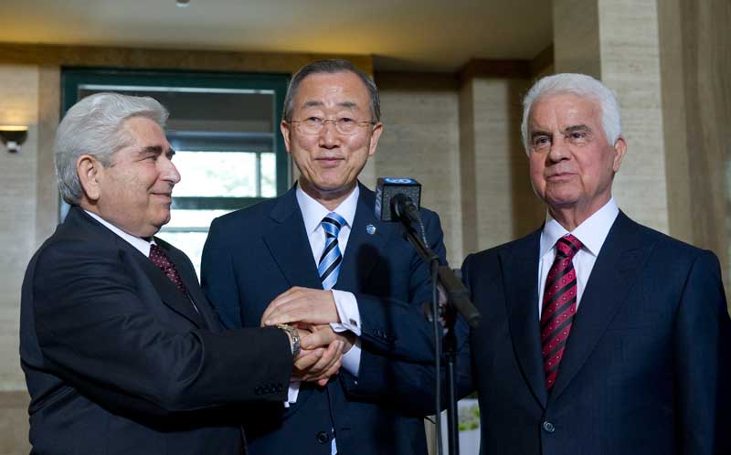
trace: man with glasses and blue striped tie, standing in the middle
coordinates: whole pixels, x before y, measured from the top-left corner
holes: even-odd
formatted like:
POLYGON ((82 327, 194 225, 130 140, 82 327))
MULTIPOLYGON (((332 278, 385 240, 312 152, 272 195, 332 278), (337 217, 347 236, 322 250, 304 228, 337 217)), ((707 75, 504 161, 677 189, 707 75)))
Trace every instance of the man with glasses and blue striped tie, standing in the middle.
MULTIPOLYGON (((281 132, 297 185, 214 220, 203 287, 228 327, 294 323, 329 344, 308 355, 342 353, 343 367, 332 380, 291 383, 287 403, 249 415, 249 452, 426 454, 408 384, 419 378, 399 374, 399 362, 432 360, 432 329, 413 308, 429 301, 429 269, 399 226, 376 219, 375 194, 357 180, 383 132, 376 84, 344 60, 303 67, 281 132), (359 377, 389 393, 359 389, 359 377)), ((439 217, 421 215, 444 259, 439 217)))

